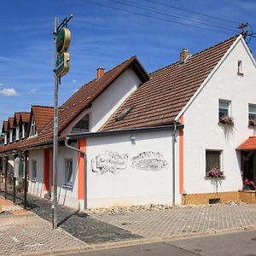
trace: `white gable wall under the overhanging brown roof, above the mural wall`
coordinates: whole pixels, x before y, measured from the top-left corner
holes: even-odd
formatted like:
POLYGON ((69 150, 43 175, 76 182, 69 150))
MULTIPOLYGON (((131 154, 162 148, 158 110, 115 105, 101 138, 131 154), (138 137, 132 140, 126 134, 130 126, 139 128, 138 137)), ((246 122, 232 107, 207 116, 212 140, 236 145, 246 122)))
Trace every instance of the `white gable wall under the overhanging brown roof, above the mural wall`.
POLYGON ((131 68, 125 70, 91 106, 90 131, 98 131, 113 112, 137 89, 141 80, 131 68))

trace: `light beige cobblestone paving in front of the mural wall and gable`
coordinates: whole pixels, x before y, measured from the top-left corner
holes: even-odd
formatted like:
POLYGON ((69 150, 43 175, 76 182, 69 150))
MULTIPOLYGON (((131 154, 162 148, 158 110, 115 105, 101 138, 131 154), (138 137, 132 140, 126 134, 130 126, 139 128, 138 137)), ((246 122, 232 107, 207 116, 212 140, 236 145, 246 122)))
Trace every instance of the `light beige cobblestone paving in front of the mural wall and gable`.
POLYGON ((146 238, 172 238, 256 226, 256 205, 214 205, 149 212, 97 213, 93 214, 92 218, 146 238))

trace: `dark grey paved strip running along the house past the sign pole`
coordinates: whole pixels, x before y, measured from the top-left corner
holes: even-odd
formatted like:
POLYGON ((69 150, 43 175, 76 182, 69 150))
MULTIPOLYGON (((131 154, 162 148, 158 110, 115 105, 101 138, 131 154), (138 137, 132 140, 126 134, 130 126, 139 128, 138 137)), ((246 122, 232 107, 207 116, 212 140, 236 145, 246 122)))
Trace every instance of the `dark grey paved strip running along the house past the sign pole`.
MULTIPOLYGON (((0 192, 0 195, 4 195, 3 191, 2 194, 0 192)), ((11 191, 9 191, 8 199, 12 201, 11 191)), ((17 204, 22 203, 22 195, 17 194, 16 202, 17 204)), ((49 223, 52 222, 51 201, 38 198, 37 196, 27 195, 27 202, 27 209, 30 212, 36 213, 49 223)), ((132 234, 128 230, 102 222, 96 218, 91 218, 86 214, 76 212, 68 207, 58 206, 57 216, 61 229, 66 230, 69 234, 88 244, 141 238, 141 236, 132 234)))

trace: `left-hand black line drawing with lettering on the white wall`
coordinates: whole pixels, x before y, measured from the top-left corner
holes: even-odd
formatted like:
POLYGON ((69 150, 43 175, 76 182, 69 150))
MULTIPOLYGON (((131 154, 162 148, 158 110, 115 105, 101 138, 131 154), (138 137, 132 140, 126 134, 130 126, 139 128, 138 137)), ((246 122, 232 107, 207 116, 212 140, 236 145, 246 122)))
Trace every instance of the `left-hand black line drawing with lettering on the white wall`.
POLYGON ((120 170, 126 168, 127 160, 128 154, 105 151, 105 153, 98 154, 91 160, 91 170, 99 174, 105 174, 107 172, 117 174, 120 170))

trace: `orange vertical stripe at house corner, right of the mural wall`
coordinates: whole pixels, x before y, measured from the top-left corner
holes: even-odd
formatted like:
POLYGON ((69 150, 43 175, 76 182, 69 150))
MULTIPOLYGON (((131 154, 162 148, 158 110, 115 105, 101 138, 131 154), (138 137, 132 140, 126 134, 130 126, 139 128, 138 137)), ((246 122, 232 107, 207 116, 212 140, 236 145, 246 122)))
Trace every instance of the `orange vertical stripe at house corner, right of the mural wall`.
MULTIPOLYGON (((183 115, 179 119, 181 124, 184 124, 183 115)), ((183 130, 179 130, 179 137, 178 137, 178 144, 179 144, 179 194, 183 194, 183 186, 184 186, 184 142, 183 142, 183 130)))

